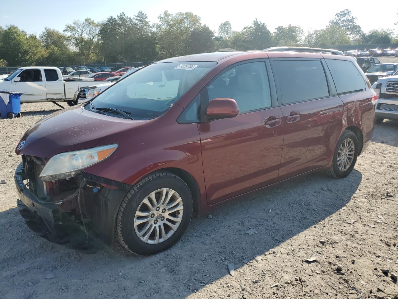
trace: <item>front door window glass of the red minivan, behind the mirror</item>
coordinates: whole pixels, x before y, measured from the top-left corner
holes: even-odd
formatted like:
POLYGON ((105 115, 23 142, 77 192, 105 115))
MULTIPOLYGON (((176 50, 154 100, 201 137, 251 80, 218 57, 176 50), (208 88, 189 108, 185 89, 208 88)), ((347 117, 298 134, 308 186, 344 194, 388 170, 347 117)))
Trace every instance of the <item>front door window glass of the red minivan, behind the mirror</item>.
POLYGON ((238 65, 225 71, 207 86, 209 101, 233 98, 239 113, 271 107, 271 94, 265 63, 262 61, 238 65))

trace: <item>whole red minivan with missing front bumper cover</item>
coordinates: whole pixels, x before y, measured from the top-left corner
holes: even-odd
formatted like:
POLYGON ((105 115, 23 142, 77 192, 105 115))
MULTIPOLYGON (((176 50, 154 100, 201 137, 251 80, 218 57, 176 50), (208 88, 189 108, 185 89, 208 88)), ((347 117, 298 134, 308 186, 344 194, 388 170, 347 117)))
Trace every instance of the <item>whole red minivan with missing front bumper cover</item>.
POLYGON ((18 207, 52 242, 116 238, 155 254, 178 242, 193 212, 313 171, 349 175, 371 141, 376 100, 353 57, 165 59, 27 130, 18 207))

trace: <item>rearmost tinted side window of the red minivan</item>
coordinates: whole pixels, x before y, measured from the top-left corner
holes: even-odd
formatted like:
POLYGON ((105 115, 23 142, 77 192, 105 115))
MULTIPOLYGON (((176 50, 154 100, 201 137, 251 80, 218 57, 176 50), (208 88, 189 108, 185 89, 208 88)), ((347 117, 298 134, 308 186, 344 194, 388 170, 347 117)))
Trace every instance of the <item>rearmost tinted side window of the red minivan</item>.
POLYGON ((326 59, 332 73, 337 93, 356 92, 366 89, 361 73, 351 61, 326 59))

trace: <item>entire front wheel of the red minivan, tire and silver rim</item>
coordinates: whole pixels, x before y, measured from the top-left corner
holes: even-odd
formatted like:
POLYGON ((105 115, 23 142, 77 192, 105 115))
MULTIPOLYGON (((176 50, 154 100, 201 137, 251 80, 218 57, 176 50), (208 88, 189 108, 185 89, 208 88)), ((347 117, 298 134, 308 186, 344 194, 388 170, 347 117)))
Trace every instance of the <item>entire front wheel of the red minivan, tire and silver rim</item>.
MULTIPOLYGON (((172 247, 182 237, 191 221, 192 207, 191 191, 185 182, 177 175, 167 171, 155 172, 147 175, 127 192, 127 195, 124 197, 119 207, 115 224, 116 238, 121 246, 132 254, 150 256, 162 252, 172 247), (166 189, 167 193, 164 198, 167 200, 168 195, 173 194, 169 201, 169 203, 172 202, 169 209, 174 209, 176 211, 167 214, 167 212, 165 212, 167 204, 160 205, 161 209, 156 210, 158 212, 154 210, 151 211, 147 205, 149 202, 151 204, 154 203, 151 201, 150 195, 156 191, 155 198, 159 206, 162 192, 166 189), (175 191, 175 193, 171 191, 175 191), (176 204, 176 202, 178 202, 178 204, 176 204), (181 202, 183 209, 181 209, 181 202), (177 207, 178 209, 176 209, 177 207), (150 215, 137 216, 137 212, 149 213, 150 215), (163 215, 166 216, 166 218, 163 215), (180 220, 179 222, 168 220, 167 217, 169 216, 180 220), (141 220, 145 220, 145 222, 135 225, 135 222, 140 222, 141 220), (172 226, 169 226, 168 223, 172 223, 174 226, 179 223, 179 225, 173 230, 172 226), (147 225, 149 226, 146 230, 147 225), (148 234, 149 231, 150 233, 148 234), (139 234, 143 235, 139 237, 139 234), (147 241, 142 240, 145 239, 146 236, 148 238, 147 241), (158 239, 157 243, 156 239, 158 239)), ((157 209, 156 205, 154 205, 153 209, 157 209)))

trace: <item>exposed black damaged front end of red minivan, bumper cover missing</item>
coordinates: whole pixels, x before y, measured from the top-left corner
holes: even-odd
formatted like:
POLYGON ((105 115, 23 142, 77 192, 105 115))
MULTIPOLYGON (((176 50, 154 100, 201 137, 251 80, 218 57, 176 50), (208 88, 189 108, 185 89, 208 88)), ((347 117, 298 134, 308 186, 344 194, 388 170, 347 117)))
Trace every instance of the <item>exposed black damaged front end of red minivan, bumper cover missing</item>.
MULTIPOLYGON (((26 159, 14 179, 17 206, 31 230, 73 249, 99 250, 113 244, 115 217, 129 185, 81 172, 74 178, 76 187, 66 189, 57 181, 43 183, 35 171, 25 169, 26 159)), ((73 186, 69 180, 64 183, 73 186)))

